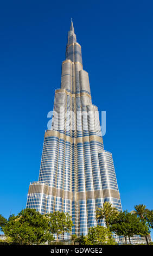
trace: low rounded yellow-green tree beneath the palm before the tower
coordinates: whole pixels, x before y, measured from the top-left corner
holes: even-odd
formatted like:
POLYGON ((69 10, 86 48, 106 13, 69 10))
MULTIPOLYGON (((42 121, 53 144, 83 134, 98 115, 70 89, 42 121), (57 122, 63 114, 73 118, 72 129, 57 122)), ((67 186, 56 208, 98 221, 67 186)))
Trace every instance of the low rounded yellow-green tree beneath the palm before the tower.
POLYGON ((116 242, 108 228, 97 225, 88 230, 85 245, 116 245, 116 242))

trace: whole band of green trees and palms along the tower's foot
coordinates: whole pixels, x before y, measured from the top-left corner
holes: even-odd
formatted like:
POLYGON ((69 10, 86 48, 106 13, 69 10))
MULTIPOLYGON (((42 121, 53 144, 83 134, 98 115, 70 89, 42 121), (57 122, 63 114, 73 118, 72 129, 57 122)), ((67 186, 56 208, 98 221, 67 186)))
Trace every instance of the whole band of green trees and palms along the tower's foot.
MULTIPOLYGON (((7 236, 5 240, 0 240, 0 245, 63 245, 58 241, 59 235, 71 233, 73 223, 71 216, 66 212, 55 211, 53 214, 42 215, 35 209, 22 210, 17 216, 11 215, 9 220, 0 215, 0 230, 7 236), (56 234, 56 241, 53 234, 56 234)), ((135 210, 131 213, 119 212, 112 207, 111 203, 105 202, 103 208, 96 210, 97 220, 105 219, 106 227, 92 227, 88 230, 87 236, 83 234, 77 237, 71 235, 72 244, 79 242, 80 245, 115 245, 112 237, 116 235, 124 236, 127 244, 127 237, 133 235, 145 236, 148 245, 148 235, 153 228, 153 210, 146 209, 143 204, 135 205, 135 210)))

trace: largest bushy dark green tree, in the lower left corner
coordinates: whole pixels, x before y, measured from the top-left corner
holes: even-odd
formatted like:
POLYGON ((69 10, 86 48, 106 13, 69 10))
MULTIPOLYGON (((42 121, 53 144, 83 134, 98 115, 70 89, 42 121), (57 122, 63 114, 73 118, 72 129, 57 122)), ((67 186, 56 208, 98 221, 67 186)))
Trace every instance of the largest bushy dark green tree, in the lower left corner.
POLYGON ((3 231, 20 245, 40 245, 54 239, 48 221, 35 209, 24 209, 17 216, 10 217, 3 231))

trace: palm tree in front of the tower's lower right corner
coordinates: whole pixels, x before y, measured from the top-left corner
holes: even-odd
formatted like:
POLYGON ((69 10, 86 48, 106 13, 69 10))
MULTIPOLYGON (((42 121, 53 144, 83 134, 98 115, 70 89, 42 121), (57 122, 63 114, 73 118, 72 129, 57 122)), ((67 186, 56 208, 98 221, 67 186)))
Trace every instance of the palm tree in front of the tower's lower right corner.
POLYGON ((98 208, 95 212, 96 219, 102 220, 105 218, 106 227, 109 228, 109 218, 116 216, 119 211, 111 203, 105 202, 103 208, 98 208))

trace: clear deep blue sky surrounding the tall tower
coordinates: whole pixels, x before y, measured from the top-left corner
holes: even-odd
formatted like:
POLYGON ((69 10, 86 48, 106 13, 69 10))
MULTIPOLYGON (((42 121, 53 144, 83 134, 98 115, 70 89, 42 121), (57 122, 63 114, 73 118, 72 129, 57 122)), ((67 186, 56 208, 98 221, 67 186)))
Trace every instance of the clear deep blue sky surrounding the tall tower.
POLYGON ((152 205, 152 1, 1 1, 0 214, 25 208, 73 17, 123 210, 152 205))

